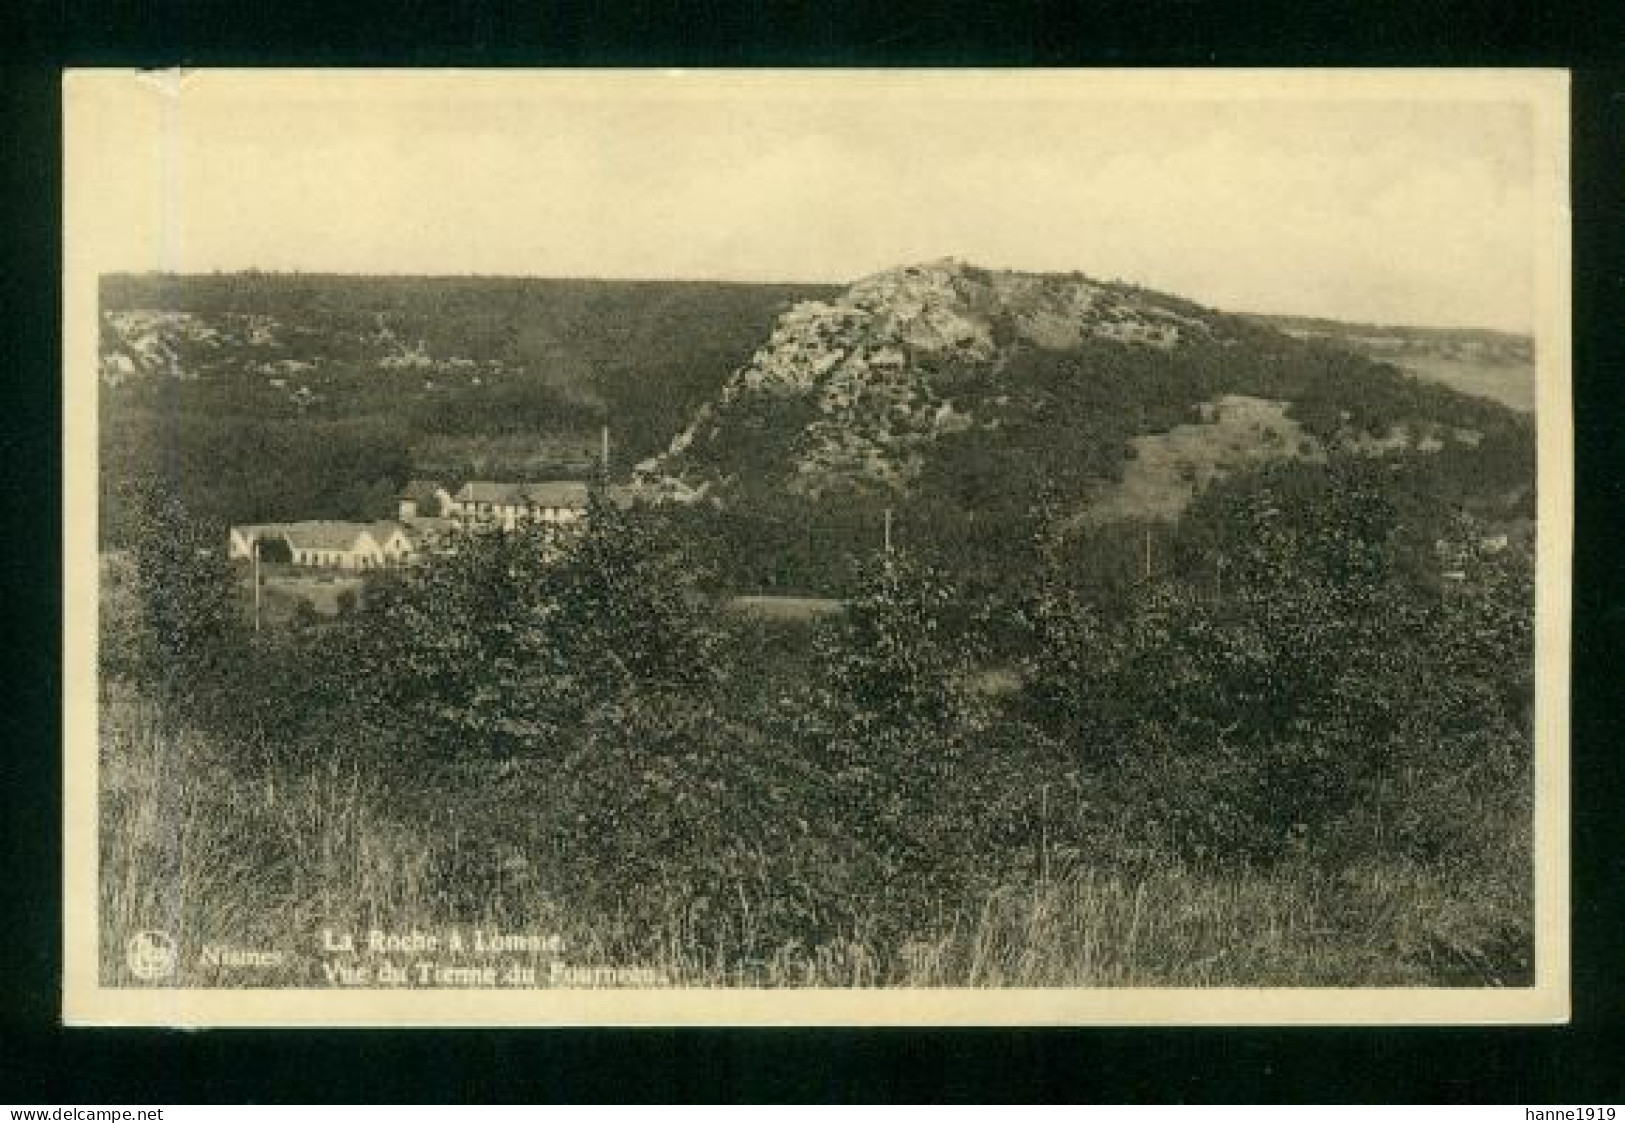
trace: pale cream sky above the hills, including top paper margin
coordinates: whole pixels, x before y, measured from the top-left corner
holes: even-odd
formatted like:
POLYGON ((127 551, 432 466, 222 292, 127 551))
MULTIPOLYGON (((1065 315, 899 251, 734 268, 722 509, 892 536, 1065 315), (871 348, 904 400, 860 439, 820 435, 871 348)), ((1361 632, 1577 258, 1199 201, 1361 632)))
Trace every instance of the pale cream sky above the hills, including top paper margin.
MULTIPOLYGON (((99 268, 853 281, 957 257, 1529 330, 1528 89, 1324 75, 70 75, 99 268)), ((1545 176, 1545 179, 1542 179, 1545 176)))

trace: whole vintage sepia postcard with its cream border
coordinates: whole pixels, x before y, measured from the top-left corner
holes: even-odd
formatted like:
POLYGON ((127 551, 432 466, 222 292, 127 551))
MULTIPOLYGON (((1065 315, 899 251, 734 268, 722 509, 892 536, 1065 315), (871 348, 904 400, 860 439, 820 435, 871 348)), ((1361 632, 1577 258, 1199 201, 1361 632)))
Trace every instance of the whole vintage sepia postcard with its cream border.
POLYGON ((63 1017, 1568 1017, 1562 72, 70 72, 63 1017))

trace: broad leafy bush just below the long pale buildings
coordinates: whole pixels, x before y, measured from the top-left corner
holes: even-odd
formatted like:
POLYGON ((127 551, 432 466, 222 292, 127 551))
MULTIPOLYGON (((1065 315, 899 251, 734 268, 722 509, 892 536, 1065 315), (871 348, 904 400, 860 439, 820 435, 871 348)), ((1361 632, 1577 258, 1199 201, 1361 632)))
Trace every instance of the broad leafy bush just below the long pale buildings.
POLYGON ((330 642, 349 697, 440 752, 557 754, 598 704, 708 692, 722 629, 702 579, 658 517, 595 502, 585 528, 463 536, 330 642))

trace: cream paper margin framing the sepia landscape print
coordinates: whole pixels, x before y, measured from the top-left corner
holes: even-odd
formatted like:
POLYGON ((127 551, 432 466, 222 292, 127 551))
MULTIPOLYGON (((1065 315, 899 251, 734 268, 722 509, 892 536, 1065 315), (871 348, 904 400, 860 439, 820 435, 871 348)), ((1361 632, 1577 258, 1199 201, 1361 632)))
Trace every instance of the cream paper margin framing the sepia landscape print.
MULTIPOLYGON (((63 1006, 83 1025, 1259 1025, 1565 1022, 1570 1011, 1568 665, 1573 543, 1570 392, 1568 73, 1560 70, 1233 72, 169 72, 63 76, 63 1006), (1458 988, 1053 990, 166 990, 98 977, 98 245, 91 216, 120 205, 119 169, 96 145, 114 107, 166 115, 234 83, 275 76, 366 83, 410 96, 426 83, 500 101, 523 88, 570 96, 816 94, 886 89, 944 98, 1089 101, 1510 101, 1534 115, 1539 546, 1536 575, 1536 983, 1458 988)), ((370 200, 358 200, 370 205, 370 200)), ((1268 221, 1268 219, 1266 219, 1268 221)))

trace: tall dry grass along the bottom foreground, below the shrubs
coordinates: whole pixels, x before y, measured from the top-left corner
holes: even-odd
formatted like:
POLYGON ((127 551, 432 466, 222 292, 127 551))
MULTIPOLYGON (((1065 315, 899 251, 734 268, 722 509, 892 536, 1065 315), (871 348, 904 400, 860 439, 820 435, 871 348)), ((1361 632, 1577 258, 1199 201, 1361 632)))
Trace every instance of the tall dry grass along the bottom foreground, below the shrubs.
MULTIPOLYGON (((723 962, 708 933, 673 917, 650 956, 613 923, 572 913, 523 853, 470 840, 444 813, 401 821, 385 795, 340 765, 275 778, 237 746, 166 736, 151 709, 104 707, 101 923, 104 985, 140 985, 125 946, 174 938, 187 986, 323 986, 335 956, 323 930, 471 938, 530 933, 559 947, 466 956, 530 969, 535 985, 694 986, 1425 986, 1528 985, 1526 835, 1497 871, 1402 860, 1336 874, 1306 866, 1219 871, 1173 861, 1134 871, 1110 860, 990 892, 930 939, 791 944, 760 962, 723 962), (275 967, 232 967, 210 947, 273 949, 275 967), (564 975, 557 970, 562 965, 564 975), (593 969, 637 969, 616 977, 593 969)), ((1518 834, 1516 830, 1511 834, 1518 834)), ((674 908, 681 908, 674 905, 674 908)), ((422 959, 422 957, 418 957, 422 959)), ((442 957, 442 962, 444 957, 442 957)), ((408 978, 405 985, 419 980, 408 978)), ((466 985, 470 977, 429 985, 466 985)), ((474 985, 497 985, 476 982, 474 985)))

